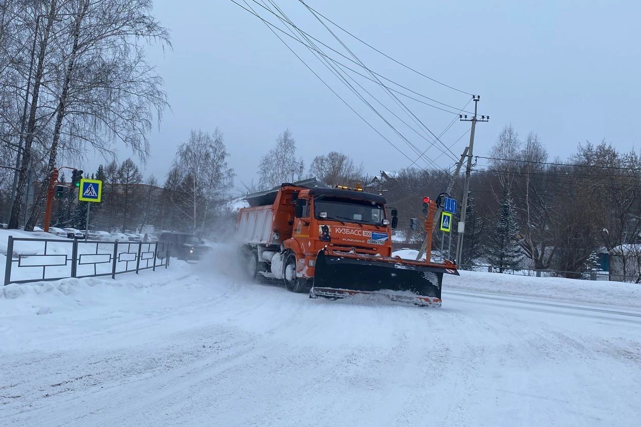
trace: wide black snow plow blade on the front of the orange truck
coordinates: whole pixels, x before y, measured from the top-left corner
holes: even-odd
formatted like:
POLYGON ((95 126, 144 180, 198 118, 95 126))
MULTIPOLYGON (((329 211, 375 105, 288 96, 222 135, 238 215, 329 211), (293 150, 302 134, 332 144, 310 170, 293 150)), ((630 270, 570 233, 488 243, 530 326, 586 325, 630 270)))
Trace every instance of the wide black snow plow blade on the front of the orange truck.
POLYGON ((321 250, 316 257, 310 297, 337 299, 375 294, 392 301, 438 307, 444 273, 458 275, 454 265, 321 250))

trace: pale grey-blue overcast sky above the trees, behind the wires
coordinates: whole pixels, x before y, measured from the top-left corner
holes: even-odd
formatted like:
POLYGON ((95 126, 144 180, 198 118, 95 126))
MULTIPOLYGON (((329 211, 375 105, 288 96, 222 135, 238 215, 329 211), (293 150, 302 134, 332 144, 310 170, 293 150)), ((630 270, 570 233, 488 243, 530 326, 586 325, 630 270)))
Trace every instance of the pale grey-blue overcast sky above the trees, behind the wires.
MULTIPOLYGON (((264 17, 270 16, 249 3, 264 17)), ((276 3, 299 28, 340 49, 303 4, 297 0, 276 3)), ((475 154, 487 154, 497 134, 510 123, 523 137, 529 131, 538 133, 551 158, 569 156, 580 141, 603 138, 618 149, 632 149, 635 144, 638 149, 638 1, 306 3, 396 60, 449 86, 481 95, 479 114, 489 115, 490 122, 477 127, 475 154)), ((165 79, 172 111, 165 115, 160 131, 151 135, 152 157, 145 176, 153 173, 163 182, 176 145, 187 138, 190 129, 213 131, 216 126, 225 135, 237 186, 256 179, 260 156, 287 128, 294 133, 298 154, 306 165, 330 150, 353 156, 369 173, 398 170, 412 163, 408 157, 417 157, 303 45, 286 39, 331 88, 403 153, 345 106, 263 22, 231 1, 156 0, 154 13, 172 35, 172 51, 154 49, 149 54, 165 79)), ((278 22, 273 16, 270 19, 278 22)), ((378 74, 456 108, 469 101, 468 95, 414 74, 340 30, 337 35, 378 74)), ((357 68, 353 63, 351 67, 357 68)), ((362 77, 354 78, 418 130, 381 88, 362 77)), ((454 118, 451 113, 401 99, 437 135, 454 118)), ((412 131, 378 101, 370 99, 381 114, 391 117, 395 129, 420 150, 428 147, 426 139, 431 137, 412 131)), ((471 107, 470 103, 467 109, 471 107)), ((449 146, 467 129, 469 123, 457 121, 440 139, 449 146)), ((467 141, 466 135, 451 150, 460 154, 467 141)), ((438 165, 453 163, 436 147, 427 154, 438 165)), ((119 160, 128 156, 128 150, 119 151, 119 160)), ((94 168, 98 160, 88 163, 86 168, 94 168)), ((427 167, 424 161, 417 165, 427 167)))

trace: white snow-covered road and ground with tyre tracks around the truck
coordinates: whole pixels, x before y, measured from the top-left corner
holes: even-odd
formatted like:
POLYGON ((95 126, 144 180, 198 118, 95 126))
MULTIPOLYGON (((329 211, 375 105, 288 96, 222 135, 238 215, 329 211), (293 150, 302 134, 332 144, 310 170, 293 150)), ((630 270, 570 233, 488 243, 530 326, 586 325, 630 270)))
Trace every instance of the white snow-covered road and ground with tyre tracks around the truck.
POLYGON ((496 273, 440 309, 199 264, 0 290, 2 426, 637 426, 637 287, 496 273), (574 301, 574 303, 570 303, 574 301))

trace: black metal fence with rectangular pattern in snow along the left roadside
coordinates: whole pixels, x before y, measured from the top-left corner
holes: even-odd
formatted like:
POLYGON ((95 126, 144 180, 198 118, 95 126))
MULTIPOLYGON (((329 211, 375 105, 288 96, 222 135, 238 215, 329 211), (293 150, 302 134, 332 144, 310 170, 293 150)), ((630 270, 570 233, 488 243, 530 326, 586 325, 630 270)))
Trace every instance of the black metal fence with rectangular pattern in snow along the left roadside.
POLYGON ((169 266, 170 243, 28 239, 9 236, 4 285, 100 277, 169 266), (22 246, 22 247, 21 247, 22 246))

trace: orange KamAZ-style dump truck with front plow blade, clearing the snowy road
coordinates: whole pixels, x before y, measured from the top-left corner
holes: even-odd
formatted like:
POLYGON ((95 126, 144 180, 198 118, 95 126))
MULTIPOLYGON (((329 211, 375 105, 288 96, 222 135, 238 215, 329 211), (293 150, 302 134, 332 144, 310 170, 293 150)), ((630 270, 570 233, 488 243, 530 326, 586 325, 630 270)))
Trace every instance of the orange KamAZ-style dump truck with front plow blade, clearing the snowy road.
MULTIPOLYGON (((397 212, 386 211, 381 195, 282 184, 246 200, 250 207, 240 209, 237 237, 249 277, 283 280, 290 291, 312 298, 373 293, 440 305, 443 275, 458 275, 449 261, 392 257, 397 212)), ((431 208, 426 229, 432 227, 433 202, 431 208)))

